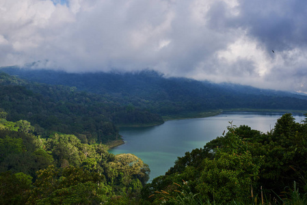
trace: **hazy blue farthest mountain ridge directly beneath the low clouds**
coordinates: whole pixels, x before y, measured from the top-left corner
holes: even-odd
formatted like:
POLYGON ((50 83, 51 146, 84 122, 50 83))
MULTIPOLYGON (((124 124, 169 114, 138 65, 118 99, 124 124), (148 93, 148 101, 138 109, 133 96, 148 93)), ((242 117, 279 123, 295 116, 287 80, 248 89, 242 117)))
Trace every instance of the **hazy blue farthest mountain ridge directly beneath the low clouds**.
POLYGON ((227 83, 165 78, 152 70, 125 73, 67 73, 16 67, 1 70, 31 81, 107 95, 120 105, 133 105, 163 116, 184 117, 218 109, 307 110, 307 96, 227 83))

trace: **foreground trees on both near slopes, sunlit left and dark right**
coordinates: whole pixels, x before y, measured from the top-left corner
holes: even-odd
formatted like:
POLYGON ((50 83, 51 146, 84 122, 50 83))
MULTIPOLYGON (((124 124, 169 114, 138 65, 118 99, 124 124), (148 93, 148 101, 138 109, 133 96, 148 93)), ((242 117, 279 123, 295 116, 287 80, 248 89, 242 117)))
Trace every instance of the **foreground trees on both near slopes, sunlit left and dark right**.
POLYGON ((133 154, 75 135, 36 135, 0 113, 1 204, 306 204, 307 121, 288 113, 269 133, 231 124, 164 176, 133 154))

